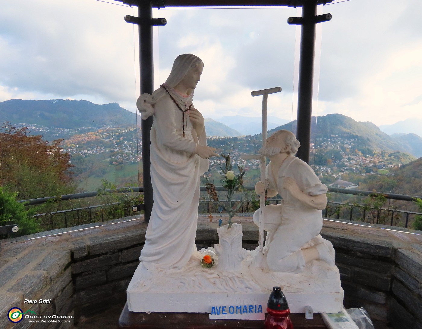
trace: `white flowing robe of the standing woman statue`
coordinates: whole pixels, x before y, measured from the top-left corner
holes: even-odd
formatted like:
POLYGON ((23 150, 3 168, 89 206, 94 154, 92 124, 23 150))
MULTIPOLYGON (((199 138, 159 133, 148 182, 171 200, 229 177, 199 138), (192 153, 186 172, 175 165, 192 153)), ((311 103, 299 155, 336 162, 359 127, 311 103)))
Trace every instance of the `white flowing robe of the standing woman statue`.
POLYGON ((205 129, 197 135, 167 94, 157 101, 151 128, 151 182, 154 204, 139 260, 161 268, 180 269, 196 251, 200 176, 209 160, 194 154, 206 145, 205 129))

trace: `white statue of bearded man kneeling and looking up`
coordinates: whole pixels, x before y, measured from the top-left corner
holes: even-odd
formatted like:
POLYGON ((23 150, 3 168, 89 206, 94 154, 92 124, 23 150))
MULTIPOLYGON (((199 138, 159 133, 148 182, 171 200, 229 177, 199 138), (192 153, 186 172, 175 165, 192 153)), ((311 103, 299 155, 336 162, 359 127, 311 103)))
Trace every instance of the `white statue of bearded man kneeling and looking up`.
MULTIPOLYGON (((327 186, 306 162, 294 156, 299 147, 292 132, 279 130, 260 150, 271 161, 266 168, 267 196, 279 193, 282 198, 281 204, 265 206, 263 212, 267 231, 263 255, 274 272, 299 273, 306 263, 317 259, 335 265, 332 243, 319 234, 322 209, 327 205, 327 186)), ((256 193, 264 190, 264 184, 257 182, 256 193)), ((259 217, 260 209, 254 213, 257 225, 259 217)))

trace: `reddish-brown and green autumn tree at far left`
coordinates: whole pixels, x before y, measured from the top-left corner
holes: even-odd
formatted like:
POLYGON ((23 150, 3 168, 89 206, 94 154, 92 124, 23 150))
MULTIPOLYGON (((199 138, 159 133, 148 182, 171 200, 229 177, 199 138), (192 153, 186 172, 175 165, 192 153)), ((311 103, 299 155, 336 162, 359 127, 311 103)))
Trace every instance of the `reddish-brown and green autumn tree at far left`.
POLYGON ((73 165, 62 152, 62 139, 49 144, 41 135, 10 123, 0 130, 0 185, 19 193, 19 199, 72 193, 73 165))

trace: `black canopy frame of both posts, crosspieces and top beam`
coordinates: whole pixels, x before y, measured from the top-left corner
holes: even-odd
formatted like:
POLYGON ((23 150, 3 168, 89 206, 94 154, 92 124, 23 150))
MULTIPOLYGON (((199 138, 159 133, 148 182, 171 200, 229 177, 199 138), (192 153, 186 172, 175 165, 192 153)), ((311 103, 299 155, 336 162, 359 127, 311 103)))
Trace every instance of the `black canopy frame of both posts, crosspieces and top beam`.
MULTIPOLYGON (((152 8, 165 7, 302 7, 302 17, 290 17, 287 24, 302 26, 300 35, 298 116, 296 137, 300 149, 296 156, 309 163, 309 148, 311 141, 312 116, 312 86, 314 80, 314 54, 316 24, 329 21, 331 14, 317 15, 317 5, 332 3, 333 0, 116 0, 130 6, 138 7, 138 17, 127 15, 128 23, 139 27, 139 59, 141 94, 152 94, 154 91, 154 63, 152 27, 165 25, 165 18, 152 18, 152 8)), ((150 137, 153 118, 142 120, 142 155, 143 155, 143 191, 145 204, 145 219, 149 221, 153 193, 151 186, 151 162, 149 158, 150 137)))

